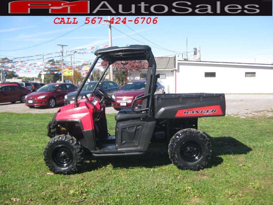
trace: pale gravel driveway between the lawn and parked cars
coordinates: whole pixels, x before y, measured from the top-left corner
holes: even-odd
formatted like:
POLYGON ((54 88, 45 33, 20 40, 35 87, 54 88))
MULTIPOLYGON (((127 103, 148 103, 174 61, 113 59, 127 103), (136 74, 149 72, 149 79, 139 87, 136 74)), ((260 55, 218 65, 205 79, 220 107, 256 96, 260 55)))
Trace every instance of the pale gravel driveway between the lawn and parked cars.
MULTIPOLYGON (((226 94, 226 114, 239 117, 248 116, 273 116, 273 94, 226 94)), ((0 112, 15 113, 56 113, 61 106, 56 108, 35 107, 29 108, 17 102, 0 103, 0 112)), ((106 113, 118 113, 110 105, 106 106, 106 113)))

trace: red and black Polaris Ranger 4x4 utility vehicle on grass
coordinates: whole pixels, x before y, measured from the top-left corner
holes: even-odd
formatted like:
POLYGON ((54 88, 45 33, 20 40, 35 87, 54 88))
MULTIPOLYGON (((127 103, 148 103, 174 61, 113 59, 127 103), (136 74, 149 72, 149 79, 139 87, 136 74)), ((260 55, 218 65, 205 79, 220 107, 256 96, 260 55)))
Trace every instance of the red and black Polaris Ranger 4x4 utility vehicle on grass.
POLYGON ((224 94, 154 94, 159 74, 151 48, 146 45, 108 47, 95 51, 97 56, 75 96, 75 102, 61 107, 48 124, 51 137, 44 149, 44 161, 54 173, 76 173, 83 163, 84 150, 93 156, 143 154, 149 147, 168 147, 170 160, 180 169, 202 169, 210 159, 208 137, 197 130, 199 117, 224 116, 224 94), (97 61, 108 62, 88 98, 78 96, 97 61), (131 108, 116 116, 115 135, 108 134, 104 100, 115 99, 98 88, 108 67, 115 61, 147 60, 144 95, 133 100, 131 108), (136 109, 137 100, 143 99, 136 109))

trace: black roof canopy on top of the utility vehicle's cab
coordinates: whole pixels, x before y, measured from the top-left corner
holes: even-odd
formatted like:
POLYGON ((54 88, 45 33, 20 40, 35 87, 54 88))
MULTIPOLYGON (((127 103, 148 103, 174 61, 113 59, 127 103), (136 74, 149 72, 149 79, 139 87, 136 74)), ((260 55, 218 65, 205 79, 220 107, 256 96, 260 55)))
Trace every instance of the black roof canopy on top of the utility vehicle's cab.
POLYGON ((98 49, 95 51, 95 55, 102 55, 101 59, 113 63, 115 61, 148 60, 149 51, 151 51, 151 47, 146 45, 113 46, 98 49))

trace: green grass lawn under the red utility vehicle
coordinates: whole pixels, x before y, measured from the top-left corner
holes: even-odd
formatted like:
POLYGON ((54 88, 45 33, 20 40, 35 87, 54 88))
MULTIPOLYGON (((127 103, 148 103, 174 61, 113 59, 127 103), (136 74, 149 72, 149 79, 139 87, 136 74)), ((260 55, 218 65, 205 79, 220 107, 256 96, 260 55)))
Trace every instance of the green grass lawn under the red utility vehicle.
MULTIPOLYGON (((88 155, 80 173, 47 175, 51 118, 0 113, 0 204, 272 204, 273 117, 200 118, 212 158, 197 172, 177 169, 161 148, 140 156, 88 155)), ((113 134, 114 114, 107 118, 113 134)))

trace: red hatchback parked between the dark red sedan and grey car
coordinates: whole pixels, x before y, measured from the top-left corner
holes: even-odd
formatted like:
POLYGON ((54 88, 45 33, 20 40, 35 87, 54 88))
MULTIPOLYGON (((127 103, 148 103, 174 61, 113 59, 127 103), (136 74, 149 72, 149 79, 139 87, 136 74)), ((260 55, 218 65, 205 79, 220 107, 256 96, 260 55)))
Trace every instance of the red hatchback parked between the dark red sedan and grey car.
POLYGON ((65 95, 76 89, 77 86, 70 83, 50 83, 27 95, 25 104, 30 108, 34 106, 53 108, 56 104, 63 104, 65 95))

